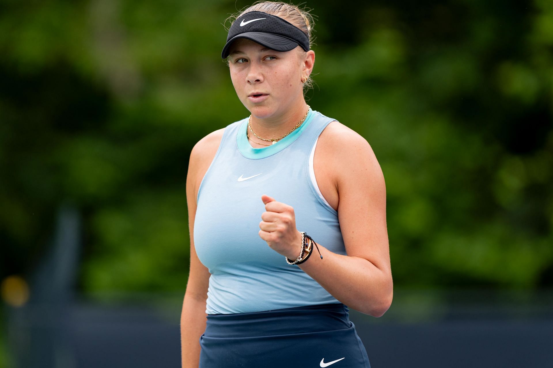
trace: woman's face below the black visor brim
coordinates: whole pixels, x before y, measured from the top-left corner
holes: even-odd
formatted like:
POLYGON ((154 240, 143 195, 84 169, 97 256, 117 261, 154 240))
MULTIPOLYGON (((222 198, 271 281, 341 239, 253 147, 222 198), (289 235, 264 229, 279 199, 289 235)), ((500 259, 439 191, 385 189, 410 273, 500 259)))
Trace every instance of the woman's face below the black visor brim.
POLYGON ((229 51, 232 84, 253 115, 278 116, 302 101, 299 100, 303 97, 302 72, 309 75, 310 70, 306 73, 305 61, 300 59, 298 50, 275 51, 241 38, 233 42, 229 51), (267 95, 249 97, 253 93, 267 95))

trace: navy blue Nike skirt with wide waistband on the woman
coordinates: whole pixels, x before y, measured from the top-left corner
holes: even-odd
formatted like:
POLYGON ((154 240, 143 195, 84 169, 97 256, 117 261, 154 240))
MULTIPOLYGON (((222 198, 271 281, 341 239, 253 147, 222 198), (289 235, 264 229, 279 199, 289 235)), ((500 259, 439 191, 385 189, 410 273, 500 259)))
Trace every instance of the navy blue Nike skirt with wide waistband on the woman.
POLYGON ((343 303, 208 314, 199 368, 370 368, 343 303))

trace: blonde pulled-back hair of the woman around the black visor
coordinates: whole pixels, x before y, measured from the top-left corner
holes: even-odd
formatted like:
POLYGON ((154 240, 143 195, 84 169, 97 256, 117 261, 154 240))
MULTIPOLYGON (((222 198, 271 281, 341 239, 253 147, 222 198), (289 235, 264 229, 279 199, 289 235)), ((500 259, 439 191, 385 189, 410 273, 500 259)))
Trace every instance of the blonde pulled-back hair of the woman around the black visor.
MULTIPOLYGON (((225 19, 225 24, 228 20, 231 20, 231 25, 241 17, 243 14, 249 13, 249 12, 265 12, 267 14, 275 15, 276 17, 282 18, 286 20, 287 22, 290 22, 291 24, 298 27, 300 30, 303 31, 307 35, 307 38, 309 39, 309 49, 311 50, 311 46, 315 44, 315 37, 312 35, 314 32, 314 25, 315 22, 313 20, 313 17, 316 17, 315 15, 310 14, 311 10, 300 9, 298 6, 294 4, 288 4, 281 1, 258 1, 252 4, 252 6, 239 11, 238 13, 232 14, 230 17, 225 19)), ((224 25, 224 24, 223 24, 224 25)), ((229 30, 230 26, 225 29, 229 30)), ((307 54, 307 51, 301 49, 301 47, 297 48, 300 52, 300 55, 302 57, 305 57, 305 54, 307 54)), ((229 58, 227 57, 227 65, 229 63, 229 58)), ((304 92, 306 89, 309 89, 313 86, 313 79, 311 79, 311 76, 307 76, 307 81, 304 83, 304 92)))

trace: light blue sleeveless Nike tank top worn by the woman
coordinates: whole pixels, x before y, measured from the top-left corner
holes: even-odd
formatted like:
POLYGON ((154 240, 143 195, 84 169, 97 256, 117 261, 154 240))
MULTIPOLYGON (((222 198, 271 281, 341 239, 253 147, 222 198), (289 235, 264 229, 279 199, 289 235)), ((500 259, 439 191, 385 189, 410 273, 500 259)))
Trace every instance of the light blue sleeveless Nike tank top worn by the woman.
MULTIPOLYGON (((196 253, 211 273, 207 314, 340 302, 259 237, 261 196, 267 194, 294 207, 298 231, 346 255, 338 213, 321 195, 312 169, 319 135, 334 120, 309 109, 298 129, 262 148, 248 142, 248 118, 225 127, 200 184, 194 220, 196 253)), ((325 260, 315 249, 306 262, 325 260)))

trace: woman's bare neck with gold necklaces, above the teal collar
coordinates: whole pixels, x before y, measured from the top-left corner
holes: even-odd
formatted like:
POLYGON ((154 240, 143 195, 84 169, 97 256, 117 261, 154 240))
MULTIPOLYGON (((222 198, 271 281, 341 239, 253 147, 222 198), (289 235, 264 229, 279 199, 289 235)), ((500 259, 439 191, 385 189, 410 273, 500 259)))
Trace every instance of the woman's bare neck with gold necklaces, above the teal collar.
MULTIPOLYGON (((252 113, 250 125, 255 134, 258 136, 265 139, 274 139, 281 137, 290 130, 294 129, 294 127, 298 125, 298 122, 304 118, 306 112, 307 104, 305 103, 305 100, 302 100, 301 104, 284 111, 284 113, 280 115, 272 115, 268 118, 257 118, 257 116, 252 113)), ((303 122, 301 124, 303 124, 303 122)), ((260 140, 258 137, 251 134, 251 132, 250 138, 254 140, 254 142, 262 142, 266 145, 270 145, 271 143, 269 141, 260 140)))

